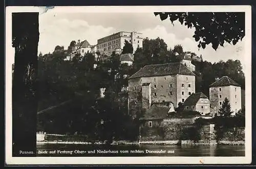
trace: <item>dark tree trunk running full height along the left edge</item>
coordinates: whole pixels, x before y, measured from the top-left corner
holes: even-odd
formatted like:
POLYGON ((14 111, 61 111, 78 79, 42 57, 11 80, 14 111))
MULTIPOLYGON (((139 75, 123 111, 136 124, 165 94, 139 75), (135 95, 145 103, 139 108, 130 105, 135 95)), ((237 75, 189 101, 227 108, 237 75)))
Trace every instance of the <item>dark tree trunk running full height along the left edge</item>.
MULTIPOLYGON (((36 155, 38 13, 12 13, 12 156, 36 155), (33 154, 20 154, 33 151, 33 154)), ((9 57, 9 56, 8 56, 9 57)))

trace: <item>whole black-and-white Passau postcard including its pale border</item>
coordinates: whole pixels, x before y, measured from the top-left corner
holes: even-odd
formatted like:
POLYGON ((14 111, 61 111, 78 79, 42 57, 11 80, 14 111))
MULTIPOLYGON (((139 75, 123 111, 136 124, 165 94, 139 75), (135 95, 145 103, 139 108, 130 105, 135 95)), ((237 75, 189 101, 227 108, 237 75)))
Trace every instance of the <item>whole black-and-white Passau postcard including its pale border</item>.
POLYGON ((9 7, 6 158, 250 163, 250 10, 9 7))

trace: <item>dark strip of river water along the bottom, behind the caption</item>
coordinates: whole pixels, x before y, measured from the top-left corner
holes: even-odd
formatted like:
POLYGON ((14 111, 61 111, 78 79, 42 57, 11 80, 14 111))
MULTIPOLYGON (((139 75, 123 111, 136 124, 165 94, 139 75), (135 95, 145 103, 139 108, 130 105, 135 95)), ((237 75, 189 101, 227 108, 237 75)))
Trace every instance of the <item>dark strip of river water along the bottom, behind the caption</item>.
POLYGON ((245 146, 38 144, 37 156, 245 156, 245 146))

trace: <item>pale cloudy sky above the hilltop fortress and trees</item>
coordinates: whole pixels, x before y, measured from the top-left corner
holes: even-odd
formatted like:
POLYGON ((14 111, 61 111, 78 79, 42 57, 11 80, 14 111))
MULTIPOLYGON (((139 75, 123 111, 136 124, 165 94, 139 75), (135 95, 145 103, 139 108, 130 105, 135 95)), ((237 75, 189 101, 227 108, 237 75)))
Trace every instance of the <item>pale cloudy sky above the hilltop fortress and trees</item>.
POLYGON ((207 45, 205 49, 198 48, 198 42, 193 38, 195 29, 188 29, 179 21, 172 24, 167 18, 161 21, 153 12, 138 13, 93 13, 93 12, 59 12, 56 8, 39 15, 38 53, 52 52, 56 45, 69 46, 72 40, 87 40, 91 45, 97 44, 97 39, 121 31, 135 31, 143 37, 162 38, 168 48, 180 44, 184 51, 195 52, 208 62, 240 60, 244 66, 245 38, 236 45, 225 43, 217 51, 207 45))

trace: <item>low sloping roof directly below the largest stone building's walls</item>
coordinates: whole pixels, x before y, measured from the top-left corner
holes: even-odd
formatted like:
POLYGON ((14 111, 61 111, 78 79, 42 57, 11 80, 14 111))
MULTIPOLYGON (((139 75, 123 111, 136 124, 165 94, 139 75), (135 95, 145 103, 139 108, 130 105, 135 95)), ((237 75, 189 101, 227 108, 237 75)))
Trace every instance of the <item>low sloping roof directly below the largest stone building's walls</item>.
POLYGON ((153 104, 150 109, 146 110, 144 116, 140 120, 157 120, 167 117, 169 107, 157 106, 153 104))

